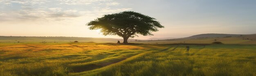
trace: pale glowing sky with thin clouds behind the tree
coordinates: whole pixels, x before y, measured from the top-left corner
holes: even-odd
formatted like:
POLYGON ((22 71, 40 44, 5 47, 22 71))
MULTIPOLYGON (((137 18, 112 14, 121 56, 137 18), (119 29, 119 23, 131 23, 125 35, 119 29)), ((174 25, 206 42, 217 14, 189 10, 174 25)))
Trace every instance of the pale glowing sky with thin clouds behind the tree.
POLYGON ((256 0, 0 0, 0 36, 103 36, 85 24, 106 14, 135 11, 165 28, 147 38, 196 34, 256 34, 256 0))

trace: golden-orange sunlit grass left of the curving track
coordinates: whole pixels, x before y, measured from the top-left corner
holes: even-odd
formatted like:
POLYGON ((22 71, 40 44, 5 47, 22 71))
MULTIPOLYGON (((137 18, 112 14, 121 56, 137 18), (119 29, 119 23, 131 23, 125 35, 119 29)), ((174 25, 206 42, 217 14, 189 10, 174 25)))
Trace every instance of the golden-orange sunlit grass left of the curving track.
POLYGON ((67 75, 73 72, 78 64, 85 67, 95 63, 111 62, 144 50, 146 48, 141 46, 95 43, 0 46, 0 76, 67 75))

